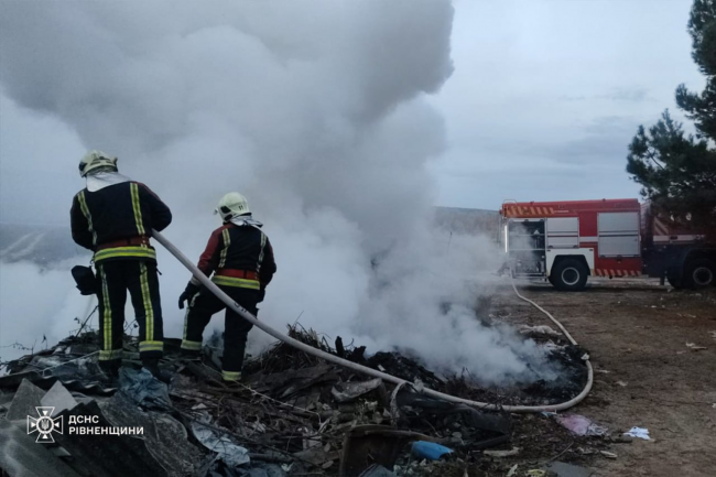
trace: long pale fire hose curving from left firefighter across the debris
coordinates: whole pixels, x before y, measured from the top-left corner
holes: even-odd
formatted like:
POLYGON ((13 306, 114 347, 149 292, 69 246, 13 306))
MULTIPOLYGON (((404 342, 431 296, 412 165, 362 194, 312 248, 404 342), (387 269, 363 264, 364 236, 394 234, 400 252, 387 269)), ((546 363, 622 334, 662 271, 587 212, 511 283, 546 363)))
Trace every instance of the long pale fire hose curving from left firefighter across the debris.
MULTIPOLYGON (((260 322, 257 319, 256 316, 253 316, 251 313, 249 313, 247 310, 245 310, 241 305, 236 303, 229 295, 224 293, 221 289, 219 289, 213 281, 208 279, 195 264, 192 262, 189 259, 187 259, 184 253, 182 253, 181 250, 178 250, 172 242, 170 242, 162 234, 158 232, 156 230, 152 230, 152 236, 159 241, 166 250, 170 251, 184 267, 186 267, 194 277, 204 285, 206 286, 207 290, 209 290, 211 293, 214 293, 219 300, 221 300, 224 303, 226 303, 227 306, 230 306, 234 308, 236 313, 238 313, 243 319, 248 321, 252 325, 257 326, 258 328, 262 329, 263 332, 268 333, 269 335, 273 336, 274 338, 293 346, 296 349, 300 349, 304 353, 307 353, 310 355, 313 355, 317 358, 325 359, 326 361, 333 362, 338 366, 343 366, 345 368, 351 369, 354 371, 371 376, 373 378, 380 378, 386 382, 392 382, 393 384, 398 386, 411 386, 419 392, 422 392, 423 394, 430 395, 432 398, 441 399, 443 401, 448 401, 448 402, 454 402, 457 404, 466 404, 473 408, 478 408, 481 410, 487 410, 487 411, 509 411, 509 412, 544 412, 544 411, 562 411, 565 409, 569 409, 573 405, 576 405, 578 402, 581 402, 584 398, 587 397, 589 391, 592 390, 592 384, 594 381, 594 370, 592 369, 592 364, 589 362, 588 356, 586 356, 585 361, 587 365, 587 371, 588 371, 588 377, 587 377, 587 383, 585 388, 582 390, 582 392, 574 399, 563 402, 560 404, 549 404, 549 405, 501 405, 501 404, 490 404, 487 402, 479 402, 479 401, 473 401, 469 399, 463 399, 463 398, 457 398, 455 395, 449 395, 445 394, 440 391, 435 391, 430 388, 425 388, 422 384, 416 384, 413 382, 410 382, 408 380, 397 378, 394 376, 388 375, 386 372, 379 371, 377 369, 368 368, 367 366, 359 365, 357 362, 349 361, 347 359, 340 358, 338 356, 332 355, 329 353, 326 353, 322 349, 314 348, 313 346, 308 346, 305 343, 301 343, 297 339, 294 339, 290 336, 284 335, 283 333, 279 332, 278 329, 271 327, 267 323, 260 322)), ((542 308, 540 305, 534 303, 533 301, 522 296, 518 291, 517 288, 514 286, 514 282, 512 282, 512 288, 514 289, 514 293, 521 299, 524 300, 528 303, 531 303, 534 305, 538 310, 540 310, 542 313, 547 315, 552 322, 554 322, 560 329, 562 329, 562 333, 567 337, 567 339, 573 344, 576 345, 577 342, 574 340, 572 335, 562 326, 560 322, 557 322, 554 316, 552 316, 547 311, 542 308)))

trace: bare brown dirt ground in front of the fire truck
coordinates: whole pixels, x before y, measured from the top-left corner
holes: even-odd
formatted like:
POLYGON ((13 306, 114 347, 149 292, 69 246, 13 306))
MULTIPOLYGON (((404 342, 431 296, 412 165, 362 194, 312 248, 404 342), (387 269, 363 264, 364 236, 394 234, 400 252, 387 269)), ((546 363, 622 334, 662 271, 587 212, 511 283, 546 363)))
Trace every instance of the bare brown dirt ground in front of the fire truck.
MULTIPOLYGON (((594 389, 569 412, 612 435, 632 426, 651 434, 651 441, 611 444, 617 459, 594 458, 594 476, 716 476, 716 290, 597 279, 578 293, 534 283, 520 291, 589 351, 594 389)), ((493 310, 514 324, 549 324, 507 291, 493 310)))

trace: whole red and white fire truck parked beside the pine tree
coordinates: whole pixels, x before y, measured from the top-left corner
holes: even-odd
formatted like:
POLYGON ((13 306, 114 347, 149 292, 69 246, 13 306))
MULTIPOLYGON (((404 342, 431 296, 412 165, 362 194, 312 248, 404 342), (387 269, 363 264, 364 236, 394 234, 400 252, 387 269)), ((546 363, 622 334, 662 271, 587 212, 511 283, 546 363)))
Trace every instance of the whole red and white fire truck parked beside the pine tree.
POLYGON ((544 278, 566 291, 583 290, 588 275, 648 275, 674 288, 716 284, 716 245, 636 198, 505 200, 500 215, 514 278, 544 278))

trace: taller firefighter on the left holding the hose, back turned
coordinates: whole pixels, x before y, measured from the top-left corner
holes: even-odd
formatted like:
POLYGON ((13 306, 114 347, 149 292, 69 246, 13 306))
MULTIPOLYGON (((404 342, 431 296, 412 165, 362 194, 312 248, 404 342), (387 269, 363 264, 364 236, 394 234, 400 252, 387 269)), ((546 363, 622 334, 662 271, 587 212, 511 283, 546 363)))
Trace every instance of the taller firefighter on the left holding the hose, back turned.
POLYGON ((89 151, 79 162, 87 187, 72 204, 72 237, 95 252, 99 300, 99 365, 116 379, 122 358, 127 290, 139 325, 142 365, 156 378, 164 336, 156 252, 150 245, 152 229, 172 221, 169 207, 144 184, 119 174, 117 158, 89 151))

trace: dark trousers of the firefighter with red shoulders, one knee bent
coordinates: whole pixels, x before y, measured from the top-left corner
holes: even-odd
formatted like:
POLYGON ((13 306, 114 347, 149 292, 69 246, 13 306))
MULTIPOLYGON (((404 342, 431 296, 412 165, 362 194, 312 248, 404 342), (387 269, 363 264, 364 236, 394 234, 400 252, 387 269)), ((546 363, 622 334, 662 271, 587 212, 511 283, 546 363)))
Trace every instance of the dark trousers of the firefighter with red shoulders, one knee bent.
MULTIPOLYGON (((259 312, 257 301, 259 300, 260 293, 258 290, 239 286, 219 288, 249 313, 257 316, 259 312)), ((221 375, 225 381, 238 381, 241 379, 246 340, 253 325, 243 319, 232 307, 227 307, 221 300, 204 288, 194 295, 186 311, 182 349, 188 351, 200 350, 204 328, 209 324, 211 315, 224 308, 226 308, 226 316, 224 324, 221 375)))

